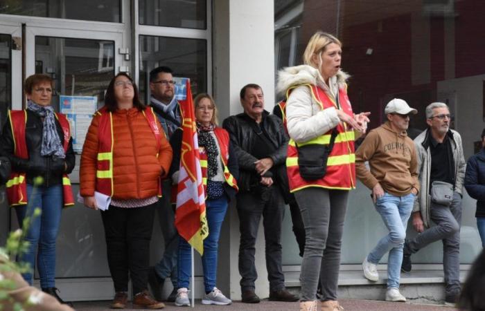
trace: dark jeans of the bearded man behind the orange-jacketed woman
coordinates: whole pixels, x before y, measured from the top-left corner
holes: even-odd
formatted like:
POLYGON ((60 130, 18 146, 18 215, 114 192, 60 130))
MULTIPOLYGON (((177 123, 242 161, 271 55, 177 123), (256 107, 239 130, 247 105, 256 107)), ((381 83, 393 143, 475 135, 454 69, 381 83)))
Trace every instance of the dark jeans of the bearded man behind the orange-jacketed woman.
POLYGON ((155 265, 155 271, 157 271, 157 274, 162 279, 170 276, 173 288, 177 288, 177 249, 179 245, 179 234, 177 228, 175 228, 175 209, 170 203, 171 189, 171 181, 168 178, 163 182, 163 196, 157 203, 157 214, 159 216, 161 234, 164 236, 165 250, 164 256, 155 265))

